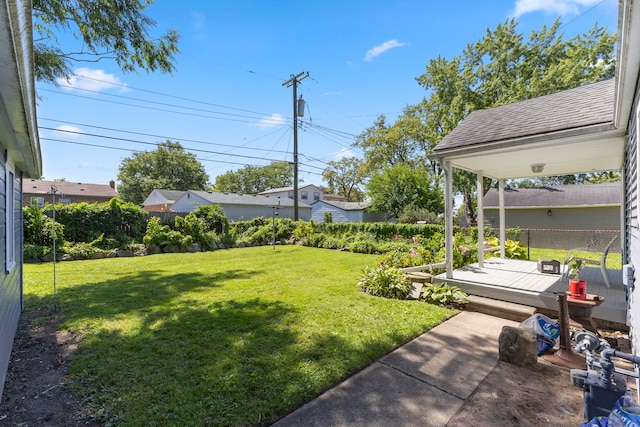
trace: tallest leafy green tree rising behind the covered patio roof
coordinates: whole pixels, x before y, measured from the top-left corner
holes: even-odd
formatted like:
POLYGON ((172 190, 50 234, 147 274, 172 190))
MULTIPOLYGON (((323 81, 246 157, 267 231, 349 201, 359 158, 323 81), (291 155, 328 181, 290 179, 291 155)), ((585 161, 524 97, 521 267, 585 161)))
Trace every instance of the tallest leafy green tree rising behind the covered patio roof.
MULTIPOLYGON (((459 56, 431 59, 417 77, 429 93, 407 107, 394 124, 381 116, 354 145, 364 151, 371 172, 408 162, 427 166, 438 178, 439 165, 426 159, 471 111, 570 89, 615 74, 615 36, 594 25, 587 33, 564 40, 560 21, 530 33, 525 41, 517 22, 505 21, 467 45, 459 56)), ((465 213, 475 223, 475 174, 456 171, 455 190, 462 193, 465 213)), ((485 190, 489 188, 485 183, 485 190)), ((371 193, 371 190, 370 190, 371 193)))

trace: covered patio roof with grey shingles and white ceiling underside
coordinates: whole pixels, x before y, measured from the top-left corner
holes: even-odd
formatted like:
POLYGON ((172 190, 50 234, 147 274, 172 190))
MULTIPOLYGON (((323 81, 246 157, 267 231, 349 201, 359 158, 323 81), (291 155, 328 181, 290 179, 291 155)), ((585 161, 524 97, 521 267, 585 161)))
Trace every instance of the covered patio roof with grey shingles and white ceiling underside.
POLYGON ((618 170, 615 79, 469 114, 433 158, 494 179, 618 170), (533 167, 533 165, 537 165, 533 167))

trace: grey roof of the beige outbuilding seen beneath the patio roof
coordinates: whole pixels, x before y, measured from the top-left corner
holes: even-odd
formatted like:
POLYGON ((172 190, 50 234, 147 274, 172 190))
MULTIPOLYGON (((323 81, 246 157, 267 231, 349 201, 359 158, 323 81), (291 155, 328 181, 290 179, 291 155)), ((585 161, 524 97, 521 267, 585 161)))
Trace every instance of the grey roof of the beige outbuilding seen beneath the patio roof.
MULTIPOLYGON (((620 183, 505 188, 504 205, 508 208, 620 205, 620 183)), ((485 194, 484 207, 498 207, 498 190, 492 188, 485 194)))

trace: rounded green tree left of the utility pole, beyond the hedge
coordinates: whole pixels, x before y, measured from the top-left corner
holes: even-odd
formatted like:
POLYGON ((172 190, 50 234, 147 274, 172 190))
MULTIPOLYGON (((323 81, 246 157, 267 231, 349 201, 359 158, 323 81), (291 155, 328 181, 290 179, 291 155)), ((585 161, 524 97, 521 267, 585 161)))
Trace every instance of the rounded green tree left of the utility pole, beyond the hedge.
POLYGON ((153 151, 134 153, 118 170, 118 193, 127 202, 141 205, 154 190, 206 190, 209 175, 196 156, 177 141, 162 142, 153 151))

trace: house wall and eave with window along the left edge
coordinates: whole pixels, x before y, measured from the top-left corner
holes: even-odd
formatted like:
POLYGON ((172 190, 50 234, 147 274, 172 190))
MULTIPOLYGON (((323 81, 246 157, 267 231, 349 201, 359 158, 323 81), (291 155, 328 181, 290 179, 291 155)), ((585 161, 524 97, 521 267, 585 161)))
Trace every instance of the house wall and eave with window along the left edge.
MULTIPOLYGON (((31 2, 0 2, 0 399, 23 303, 22 182, 42 176, 31 2)), ((13 396, 19 398, 18 396, 13 396)))

